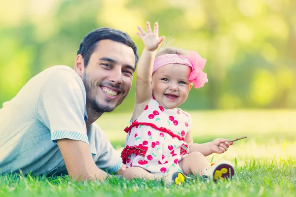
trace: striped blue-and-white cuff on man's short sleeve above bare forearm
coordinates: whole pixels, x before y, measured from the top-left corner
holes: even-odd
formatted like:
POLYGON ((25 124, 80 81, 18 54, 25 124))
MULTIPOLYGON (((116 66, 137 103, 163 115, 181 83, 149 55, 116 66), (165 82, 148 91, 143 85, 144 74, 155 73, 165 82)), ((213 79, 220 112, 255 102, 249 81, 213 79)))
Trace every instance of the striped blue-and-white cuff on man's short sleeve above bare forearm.
POLYGON ((76 131, 53 131, 51 133, 51 141, 53 141, 54 143, 56 143, 58 139, 65 139, 65 138, 79 140, 79 141, 83 141, 83 142, 89 144, 87 135, 83 134, 83 133, 80 133, 80 132, 76 132, 76 131))

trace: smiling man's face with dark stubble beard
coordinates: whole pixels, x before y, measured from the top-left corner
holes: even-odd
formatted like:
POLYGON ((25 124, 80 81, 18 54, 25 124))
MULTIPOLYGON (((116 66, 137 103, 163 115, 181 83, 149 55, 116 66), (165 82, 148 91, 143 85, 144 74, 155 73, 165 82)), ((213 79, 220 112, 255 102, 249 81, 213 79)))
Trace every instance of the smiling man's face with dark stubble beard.
POLYGON ((101 40, 84 69, 86 102, 93 112, 110 112, 131 89, 135 71, 133 49, 120 42, 101 40))

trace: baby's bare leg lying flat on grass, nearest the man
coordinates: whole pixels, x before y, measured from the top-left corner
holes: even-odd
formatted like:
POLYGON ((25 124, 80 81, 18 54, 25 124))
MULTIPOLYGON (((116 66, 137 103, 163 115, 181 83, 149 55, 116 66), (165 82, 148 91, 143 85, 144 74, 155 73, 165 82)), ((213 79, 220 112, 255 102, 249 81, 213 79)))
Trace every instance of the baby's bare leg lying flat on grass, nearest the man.
POLYGON ((126 168, 122 176, 127 178, 128 180, 133 178, 147 178, 151 180, 158 180, 160 181, 164 176, 161 175, 155 175, 150 172, 148 172, 146 169, 143 169, 142 167, 129 167, 126 168))

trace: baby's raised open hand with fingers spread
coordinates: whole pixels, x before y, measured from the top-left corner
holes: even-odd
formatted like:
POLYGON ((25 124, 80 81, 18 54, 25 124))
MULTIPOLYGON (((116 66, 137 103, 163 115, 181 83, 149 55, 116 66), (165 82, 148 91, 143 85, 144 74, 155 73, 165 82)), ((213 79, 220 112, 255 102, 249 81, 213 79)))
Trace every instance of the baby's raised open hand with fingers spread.
POLYGON ((143 40, 145 49, 148 51, 155 51, 161 44, 161 42, 164 40, 164 36, 158 37, 158 24, 155 22, 153 32, 150 28, 149 22, 146 22, 146 29, 147 32, 145 32, 140 26, 138 26, 138 29, 140 31, 137 32, 137 35, 143 40))

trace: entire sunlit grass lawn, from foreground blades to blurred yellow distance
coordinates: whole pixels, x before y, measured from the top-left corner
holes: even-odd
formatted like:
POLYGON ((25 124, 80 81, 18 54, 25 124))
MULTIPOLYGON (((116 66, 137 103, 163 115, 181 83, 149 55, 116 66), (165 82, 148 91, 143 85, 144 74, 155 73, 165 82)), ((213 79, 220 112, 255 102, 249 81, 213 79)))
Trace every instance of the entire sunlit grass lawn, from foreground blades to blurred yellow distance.
MULTIPOLYGON (((162 182, 140 179, 126 181, 117 177, 111 177, 104 183, 75 183, 68 176, 24 177, 14 174, 0 176, 0 197, 296 196, 296 123, 291 121, 295 119, 295 112, 191 114, 193 119, 198 120, 195 121, 198 126, 193 126, 195 142, 202 143, 215 137, 248 135, 247 139, 236 142, 226 153, 208 157, 209 161, 223 159, 234 164, 235 175, 231 181, 216 184, 195 177, 184 186, 165 187, 162 182)), ((124 145, 125 133, 121 128, 126 126, 128 119, 127 114, 108 114, 98 122, 118 149, 124 145)))

